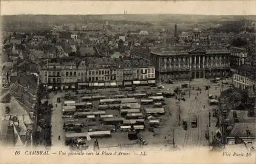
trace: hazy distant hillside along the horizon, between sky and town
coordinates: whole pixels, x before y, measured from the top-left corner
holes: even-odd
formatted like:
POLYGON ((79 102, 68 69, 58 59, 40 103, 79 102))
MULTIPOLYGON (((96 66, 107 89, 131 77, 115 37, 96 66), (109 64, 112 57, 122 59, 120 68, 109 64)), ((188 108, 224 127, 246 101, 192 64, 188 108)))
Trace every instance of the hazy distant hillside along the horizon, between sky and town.
POLYGON ((62 24, 65 22, 87 22, 94 20, 110 21, 147 21, 147 22, 221 22, 247 19, 256 21, 256 15, 181 15, 181 14, 123 14, 119 15, 5 15, 1 16, 3 24, 6 22, 47 22, 52 24, 62 24))

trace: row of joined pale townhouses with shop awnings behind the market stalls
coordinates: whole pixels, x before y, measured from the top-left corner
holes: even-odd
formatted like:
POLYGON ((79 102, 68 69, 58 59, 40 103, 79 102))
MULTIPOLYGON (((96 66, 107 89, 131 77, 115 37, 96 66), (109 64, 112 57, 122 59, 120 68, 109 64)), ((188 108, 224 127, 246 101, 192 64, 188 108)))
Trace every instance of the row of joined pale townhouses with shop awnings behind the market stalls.
POLYGON ((155 81, 155 67, 142 59, 90 58, 77 67, 74 63, 48 63, 40 70, 40 80, 48 90, 146 85, 155 81))

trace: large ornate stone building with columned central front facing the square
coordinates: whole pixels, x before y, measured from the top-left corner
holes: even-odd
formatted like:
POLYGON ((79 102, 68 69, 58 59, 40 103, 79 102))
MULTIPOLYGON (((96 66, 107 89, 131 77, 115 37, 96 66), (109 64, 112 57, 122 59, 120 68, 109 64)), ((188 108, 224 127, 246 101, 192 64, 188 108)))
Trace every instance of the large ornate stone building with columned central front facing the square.
POLYGON ((146 51, 137 49, 132 55, 151 59, 156 66, 156 79, 161 81, 227 77, 230 73, 230 52, 224 46, 165 46, 143 52, 146 51))

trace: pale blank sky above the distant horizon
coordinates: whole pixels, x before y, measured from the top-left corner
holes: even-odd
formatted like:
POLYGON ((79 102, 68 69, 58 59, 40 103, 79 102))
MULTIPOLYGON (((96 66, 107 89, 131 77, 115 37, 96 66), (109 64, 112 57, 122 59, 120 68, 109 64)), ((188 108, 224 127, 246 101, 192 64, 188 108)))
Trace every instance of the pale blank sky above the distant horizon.
POLYGON ((256 15, 256 1, 0 1, 1 15, 203 14, 256 15))

